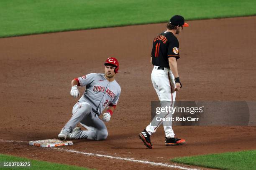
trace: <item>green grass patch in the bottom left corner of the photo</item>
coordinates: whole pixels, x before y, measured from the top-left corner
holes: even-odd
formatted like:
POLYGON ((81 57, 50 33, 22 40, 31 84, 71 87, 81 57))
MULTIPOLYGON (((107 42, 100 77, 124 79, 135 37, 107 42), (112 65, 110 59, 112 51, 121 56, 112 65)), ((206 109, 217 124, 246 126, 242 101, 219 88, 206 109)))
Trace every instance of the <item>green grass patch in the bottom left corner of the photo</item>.
POLYGON ((78 166, 72 166, 72 165, 64 165, 64 164, 59 164, 59 163, 49 163, 45 161, 39 161, 39 160, 31 160, 27 158, 20 158, 20 157, 15 157, 11 155, 3 155, 0 154, 0 169, 6 169, 6 170, 11 170, 11 169, 18 169, 18 170, 89 170, 87 168, 83 167, 78 167, 78 166), (3 163, 4 162, 29 162, 30 167, 14 167, 14 168, 4 168, 3 163))

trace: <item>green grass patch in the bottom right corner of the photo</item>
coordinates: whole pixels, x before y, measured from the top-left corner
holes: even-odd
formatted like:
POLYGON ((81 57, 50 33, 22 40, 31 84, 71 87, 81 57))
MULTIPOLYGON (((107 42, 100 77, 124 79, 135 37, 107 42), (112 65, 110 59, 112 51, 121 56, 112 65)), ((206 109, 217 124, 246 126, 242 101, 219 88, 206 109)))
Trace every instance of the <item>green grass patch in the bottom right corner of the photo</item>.
POLYGON ((256 150, 181 157, 171 161, 223 170, 256 170, 256 150))

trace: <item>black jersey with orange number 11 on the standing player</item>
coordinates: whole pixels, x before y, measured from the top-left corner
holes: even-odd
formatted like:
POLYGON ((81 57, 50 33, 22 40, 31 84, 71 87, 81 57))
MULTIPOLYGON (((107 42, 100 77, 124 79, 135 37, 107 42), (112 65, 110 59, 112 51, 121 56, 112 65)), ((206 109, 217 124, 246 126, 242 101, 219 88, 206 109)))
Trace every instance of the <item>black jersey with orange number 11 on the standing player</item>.
POLYGON ((163 32, 155 37, 151 57, 153 65, 169 68, 169 57, 179 59, 179 41, 177 37, 172 32, 163 32))

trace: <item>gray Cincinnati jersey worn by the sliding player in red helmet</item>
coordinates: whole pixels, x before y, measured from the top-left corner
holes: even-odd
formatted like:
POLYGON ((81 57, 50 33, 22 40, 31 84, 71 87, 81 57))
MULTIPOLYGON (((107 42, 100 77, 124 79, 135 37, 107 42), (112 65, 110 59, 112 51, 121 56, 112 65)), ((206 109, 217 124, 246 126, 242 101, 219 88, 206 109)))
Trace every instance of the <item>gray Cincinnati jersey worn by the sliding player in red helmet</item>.
POLYGON ((104 74, 97 73, 78 77, 78 80, 81 86, 86 86, 82 97, 92 106, 92 111, 98 116, 108 105, 117 105, 121 87, 115 80, 109 82, 104 74))

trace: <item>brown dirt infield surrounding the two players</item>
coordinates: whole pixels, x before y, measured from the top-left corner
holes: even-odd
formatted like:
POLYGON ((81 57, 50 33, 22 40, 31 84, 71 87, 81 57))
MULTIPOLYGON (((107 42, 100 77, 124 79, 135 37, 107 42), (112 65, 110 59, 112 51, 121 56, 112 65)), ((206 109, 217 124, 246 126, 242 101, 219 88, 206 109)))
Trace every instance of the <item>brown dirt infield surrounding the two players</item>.
MULTIPOLYGON (((177 100, 256 100, 256 17, 190 21, 178 35, 182 90, 177 100)), ((105 141, 77 140, 63 147, 88 153, 169 163, 170 158, 256 149, 255 126, 174 126, 187 144, 165 147, 162 127, 144 147, 138 133, 150 121, 152 40, 166 24, 137 25, 0 39, 2 140, 56 138, 77 101, 70 81, 103 72, 107 57, 117 57, 120 102, 107 123, 105 141)), ((80 89, 82 92, 82 89, 80 89)), ((24 142, 0 142, 0 153, 97 169, 154 169, 109 158, 39 149, 24 142), (115 164, 115 166, 113 166, 115 164)), ((159 169, 170 169, 160 168, 159 169)))

